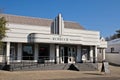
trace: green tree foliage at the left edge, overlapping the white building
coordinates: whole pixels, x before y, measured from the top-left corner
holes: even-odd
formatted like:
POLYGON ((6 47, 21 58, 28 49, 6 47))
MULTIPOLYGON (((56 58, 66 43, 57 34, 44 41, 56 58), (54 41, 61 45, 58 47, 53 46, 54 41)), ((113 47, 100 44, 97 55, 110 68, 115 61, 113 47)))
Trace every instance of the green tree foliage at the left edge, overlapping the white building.
POLYGON ((2 47, 2 39, 6 36, 6 19, 4 17, 0 17, 0 48, 2 47))

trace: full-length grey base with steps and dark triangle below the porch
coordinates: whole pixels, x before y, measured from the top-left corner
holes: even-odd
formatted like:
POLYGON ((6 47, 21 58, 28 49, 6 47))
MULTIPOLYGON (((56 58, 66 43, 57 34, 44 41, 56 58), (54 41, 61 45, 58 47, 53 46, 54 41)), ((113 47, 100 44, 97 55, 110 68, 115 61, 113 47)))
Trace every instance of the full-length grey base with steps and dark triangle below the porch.
POLYGON ((75 64, 38 64, 38 63, 16 63, 11 64, 8 70, 21 71, 21 70, 75 70, 75 71, 95 71, 97 64, 94 63, 75 63, 75 64))

